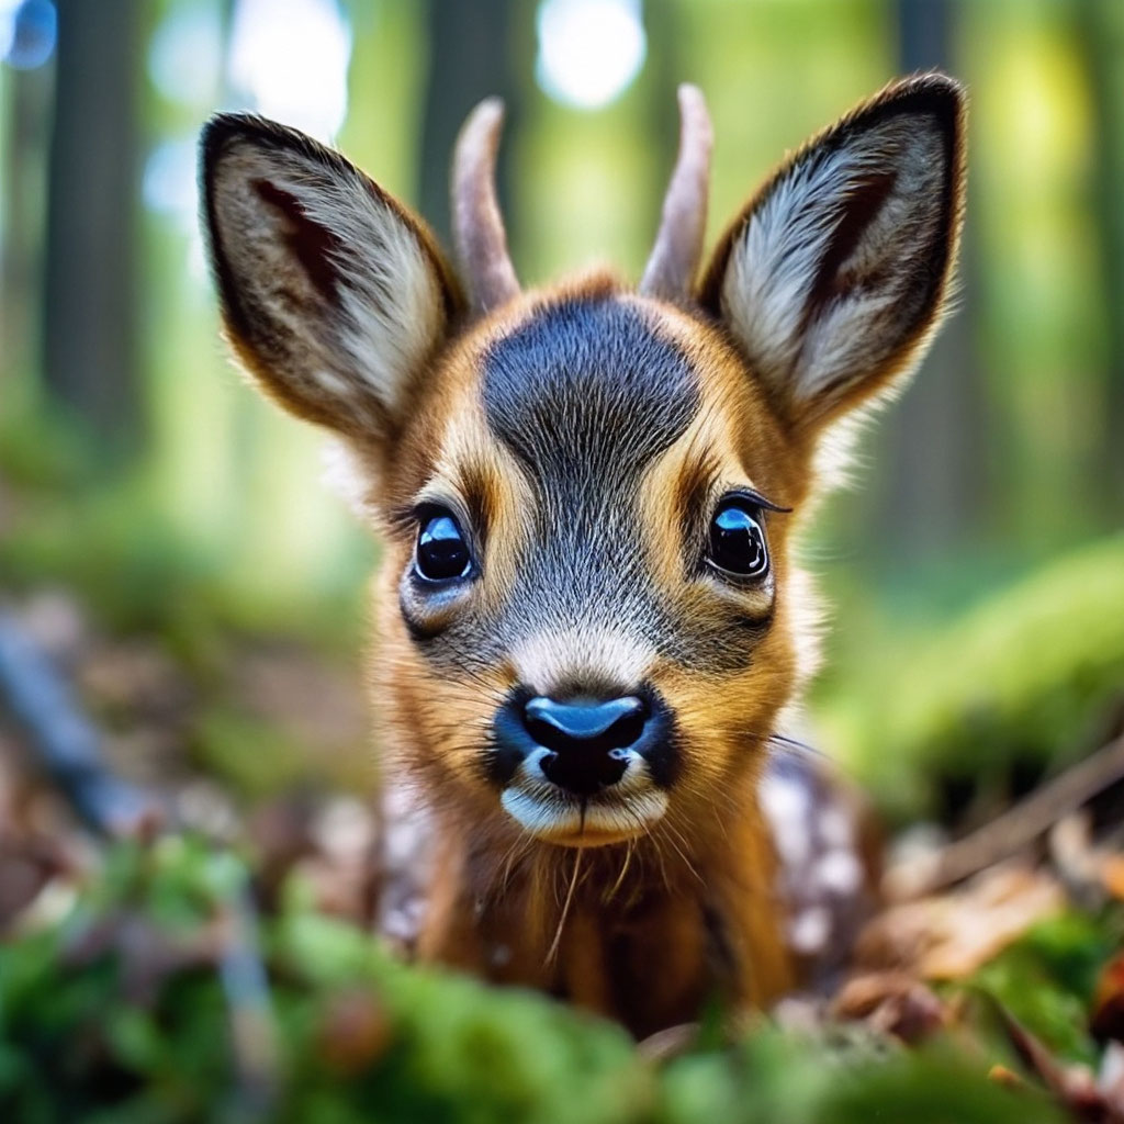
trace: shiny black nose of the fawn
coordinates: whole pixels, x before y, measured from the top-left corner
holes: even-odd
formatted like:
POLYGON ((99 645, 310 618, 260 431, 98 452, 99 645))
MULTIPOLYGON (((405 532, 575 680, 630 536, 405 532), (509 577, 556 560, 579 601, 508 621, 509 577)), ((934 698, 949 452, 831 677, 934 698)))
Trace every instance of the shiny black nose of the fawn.
POLYGON ((523 708, 527 733, 551 753, 541 768, 547 780, 575 796, 616 785, 628 768, 624 751, 641 740, 649 705, 629 696, 608 703, 529 699, 523 708))

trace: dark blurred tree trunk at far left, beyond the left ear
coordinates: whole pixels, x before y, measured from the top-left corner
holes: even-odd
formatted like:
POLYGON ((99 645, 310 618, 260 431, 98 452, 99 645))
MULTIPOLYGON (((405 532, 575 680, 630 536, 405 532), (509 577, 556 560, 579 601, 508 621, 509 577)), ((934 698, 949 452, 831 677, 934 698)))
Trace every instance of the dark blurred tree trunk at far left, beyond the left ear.
POLYGON ((57 0, 47 201, 44 375, 83 428, 135 447, 140 410, 138 0, 57 0))

